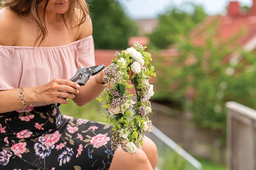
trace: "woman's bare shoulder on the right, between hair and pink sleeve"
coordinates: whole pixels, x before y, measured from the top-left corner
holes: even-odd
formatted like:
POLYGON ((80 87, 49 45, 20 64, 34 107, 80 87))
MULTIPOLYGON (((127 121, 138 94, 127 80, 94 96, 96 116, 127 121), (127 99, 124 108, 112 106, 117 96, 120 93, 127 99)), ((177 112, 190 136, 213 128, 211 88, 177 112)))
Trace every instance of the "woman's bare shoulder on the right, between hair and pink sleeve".
POLYGON ((81 24, 78 30, 79 39, 92 35, 92 20, 88 15, 86 21, 81 24))

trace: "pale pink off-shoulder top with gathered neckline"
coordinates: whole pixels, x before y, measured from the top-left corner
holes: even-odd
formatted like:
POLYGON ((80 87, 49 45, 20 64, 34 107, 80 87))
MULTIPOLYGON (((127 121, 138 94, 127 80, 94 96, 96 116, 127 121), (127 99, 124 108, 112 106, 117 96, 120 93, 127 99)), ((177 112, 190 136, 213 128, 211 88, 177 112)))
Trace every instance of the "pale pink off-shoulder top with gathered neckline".
POLYGON ((92 36, 55 47, 0 45, 0 90, 36 87, 54 78, 71 79, 78 68, 94 65, 92 36))

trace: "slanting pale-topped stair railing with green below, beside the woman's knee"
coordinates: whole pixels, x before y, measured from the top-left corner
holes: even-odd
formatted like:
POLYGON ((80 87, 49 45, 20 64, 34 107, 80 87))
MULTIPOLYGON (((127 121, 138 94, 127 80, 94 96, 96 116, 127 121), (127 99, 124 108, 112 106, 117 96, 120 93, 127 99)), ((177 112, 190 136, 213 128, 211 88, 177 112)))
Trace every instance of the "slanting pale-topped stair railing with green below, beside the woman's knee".
POLYGON ((179 147, 177 143, 153 126, 146 136, 153 140, 158 148, 158 170, 201 170, 201 163, 179 147))

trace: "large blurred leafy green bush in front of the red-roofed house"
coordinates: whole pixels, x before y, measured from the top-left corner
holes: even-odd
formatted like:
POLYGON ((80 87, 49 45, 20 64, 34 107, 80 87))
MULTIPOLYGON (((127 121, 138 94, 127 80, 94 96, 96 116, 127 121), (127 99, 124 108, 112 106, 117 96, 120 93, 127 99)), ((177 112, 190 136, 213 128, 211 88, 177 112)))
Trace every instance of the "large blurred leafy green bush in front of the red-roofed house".
POLYGON ((225 102, 256 109, 256 58, 239 48, 238 36, 217 40, 215 26, 206 28, 204 35, 208 37, 201 47, 193 45, 189 36, 179 38, 179 57, 154 63, 158 72, 155 99, 181 101, 182 109, 191 110, 199 125, 225 134, 225 102), (223 62, 234 49, 240 59, 223 62))

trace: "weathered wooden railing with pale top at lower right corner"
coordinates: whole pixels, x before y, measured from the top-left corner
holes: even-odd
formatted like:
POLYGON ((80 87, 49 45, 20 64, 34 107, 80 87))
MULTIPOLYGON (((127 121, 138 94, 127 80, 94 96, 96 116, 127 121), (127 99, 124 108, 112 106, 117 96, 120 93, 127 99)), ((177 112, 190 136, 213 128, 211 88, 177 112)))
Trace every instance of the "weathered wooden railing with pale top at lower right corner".
POLYGON ((236 102, 228 108, 228 169, 256 170, 256 110, 236 102))

